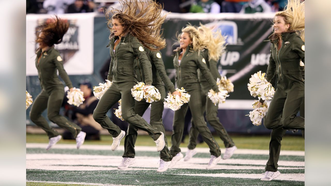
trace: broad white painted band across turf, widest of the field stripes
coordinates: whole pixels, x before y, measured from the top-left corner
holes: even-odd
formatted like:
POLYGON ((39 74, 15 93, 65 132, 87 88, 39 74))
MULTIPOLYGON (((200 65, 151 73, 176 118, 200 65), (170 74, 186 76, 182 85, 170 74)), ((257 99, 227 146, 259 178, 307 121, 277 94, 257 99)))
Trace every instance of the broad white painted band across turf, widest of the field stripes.
MULTIPOLYGON (((155 170, 158 168, 158 157, 136 157, 136 163, 130 165, 125 170, 155 170)), ((27 169, 44 169, 44 170, 118 170, 117 166, 121 163, 120 156, 100 156, 100 155, 64 155, 64 154, 27 154, 27 169), (74 166, 76 165, 76 166, 74 166), (78 165, 78 166, 77 166, 78 165), (80 165, 80 166, 79 166, 80 165), (107 167, 115 166, 115 167, 107 167)), ((180 160, 173 168, 182 169, 205 169, 208 158, 192 158, 184 162, 180 160)), ((219 163, 225 164, 243 164, 243 165, 216 165, 215 169, 264 169, 266 160, 242 160, 228 159, 221 160, 219 163), (247 165, 246 165, 247 164, 247 165), (249 166, 254 164, 255 166, 249 166), (261 165, 261 166, 259 166, 261 165)), ((302 169, 304 162, 280 161, 279 169, 302 169)))

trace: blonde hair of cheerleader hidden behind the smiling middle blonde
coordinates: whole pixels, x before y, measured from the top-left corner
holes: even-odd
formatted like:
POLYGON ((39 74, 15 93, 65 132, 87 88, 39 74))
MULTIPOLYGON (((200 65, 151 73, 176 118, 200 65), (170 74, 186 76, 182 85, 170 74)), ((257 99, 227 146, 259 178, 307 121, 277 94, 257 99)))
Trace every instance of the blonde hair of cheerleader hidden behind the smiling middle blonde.
POLYGON ((221 30, 212 32, 210 28, 200 23, 198 31, 201 34, 201 39, 203 41, 202 46, 208 49, 209 60, 218 61, 221 55, 225 52, 225 39, 222 36, 221 30))

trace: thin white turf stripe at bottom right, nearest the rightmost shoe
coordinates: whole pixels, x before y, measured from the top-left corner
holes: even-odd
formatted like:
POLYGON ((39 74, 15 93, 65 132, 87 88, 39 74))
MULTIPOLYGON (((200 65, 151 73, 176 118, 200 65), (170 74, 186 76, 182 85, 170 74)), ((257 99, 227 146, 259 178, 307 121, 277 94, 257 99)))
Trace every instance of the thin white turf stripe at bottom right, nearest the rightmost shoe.
MULTIPOLYGON (((209 177, 227 177, 227 178, 251 178, 251 179, 261 179, 262 174, 179 174, 186 176, 209 176, 209 177)), ((305 181, 305 174, 280 174, 274 180, 289 180, 289 181, 305 181)), ((267 184, 268 182, 265 181, 267 184)))

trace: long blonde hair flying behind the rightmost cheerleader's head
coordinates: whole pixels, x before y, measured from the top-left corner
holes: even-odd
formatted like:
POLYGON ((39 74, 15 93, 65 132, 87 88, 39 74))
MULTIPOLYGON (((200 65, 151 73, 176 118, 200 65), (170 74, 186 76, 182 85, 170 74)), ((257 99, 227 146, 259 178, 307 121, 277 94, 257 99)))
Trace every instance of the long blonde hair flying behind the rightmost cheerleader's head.
POLYGON ((285 24, 290 24, 289 30, 294 30, 305 41, 305 2, 288 0, 284 11, 276 12, 276 16, 284 17, 285 24))

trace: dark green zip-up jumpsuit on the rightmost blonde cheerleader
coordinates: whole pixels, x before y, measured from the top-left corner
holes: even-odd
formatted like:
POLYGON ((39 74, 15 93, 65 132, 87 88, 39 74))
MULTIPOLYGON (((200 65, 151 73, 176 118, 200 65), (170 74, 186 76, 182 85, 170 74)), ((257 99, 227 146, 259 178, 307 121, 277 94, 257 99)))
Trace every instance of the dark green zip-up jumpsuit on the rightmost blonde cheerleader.
POLYGON ((268 112, 263 118, 266 128, 272 129, 269 144, 269 160, 265 170, 276 172, 280 154, 281 140, 285 129, 305 130, 305 80, 300 61, 305 63, 305 43, 294 31, 283 32, 282 45, 278 50, 278 37, 274 34, 271 41, 271 55, 266 73, 271 81, 277 73, 277 89, 271 100, 268 112), (297 116, 301 111, 301 115, 297 116))

